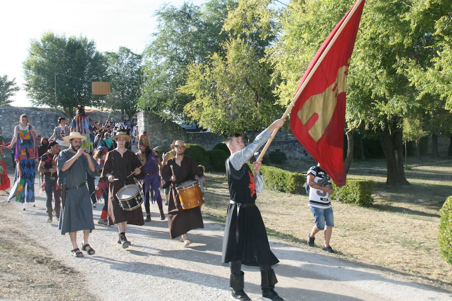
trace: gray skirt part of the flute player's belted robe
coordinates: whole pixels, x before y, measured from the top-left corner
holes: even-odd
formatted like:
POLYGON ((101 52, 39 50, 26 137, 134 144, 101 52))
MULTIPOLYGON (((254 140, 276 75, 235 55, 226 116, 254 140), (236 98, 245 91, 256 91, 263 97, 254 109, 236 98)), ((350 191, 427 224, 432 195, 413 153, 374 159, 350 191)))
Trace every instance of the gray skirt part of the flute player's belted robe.
POLYGON ((61 234, 94 229, 91 199, 86 186, 67 191, 58 229, 61 234))

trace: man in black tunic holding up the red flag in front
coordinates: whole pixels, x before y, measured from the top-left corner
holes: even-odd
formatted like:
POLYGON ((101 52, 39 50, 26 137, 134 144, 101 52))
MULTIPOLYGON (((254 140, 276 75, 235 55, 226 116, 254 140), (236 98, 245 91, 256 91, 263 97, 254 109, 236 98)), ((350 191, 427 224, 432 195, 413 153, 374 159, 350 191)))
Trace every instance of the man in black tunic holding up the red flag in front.
POLYGON ((262 163, 254 162, 256 176, 253 176, 246 162, 270 139, 273 130, 282 127, 284 122, 284 119, 274 121, 247 147, 240 133, 232 133, 226 138, 231 151, 225 163, 231 201, 224 229, 222 262, 230 262, 232 296, 238 300, 251 300, 244 291, 242 263, 260 267, 264 300, 283 300, 274 290, 278 281, 271 267, 279 260, 270 250, 265 225, 255 204, 256 192, 262 192, 264 188, 260 173, 262 163))

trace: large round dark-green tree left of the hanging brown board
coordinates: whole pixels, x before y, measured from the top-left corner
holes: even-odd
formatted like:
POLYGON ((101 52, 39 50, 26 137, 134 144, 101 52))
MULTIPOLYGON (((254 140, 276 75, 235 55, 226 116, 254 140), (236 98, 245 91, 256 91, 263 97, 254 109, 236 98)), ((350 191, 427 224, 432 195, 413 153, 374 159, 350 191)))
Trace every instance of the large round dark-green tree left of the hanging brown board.
POLYGON ((104 81, 106 63, 94 41, 86 37, 45 33, 32 40, 24 62, 25 89, 35 105, 57 106, 72 117, 79 104, 99 106, 103 95, 91 94, 91 81, 104 81))

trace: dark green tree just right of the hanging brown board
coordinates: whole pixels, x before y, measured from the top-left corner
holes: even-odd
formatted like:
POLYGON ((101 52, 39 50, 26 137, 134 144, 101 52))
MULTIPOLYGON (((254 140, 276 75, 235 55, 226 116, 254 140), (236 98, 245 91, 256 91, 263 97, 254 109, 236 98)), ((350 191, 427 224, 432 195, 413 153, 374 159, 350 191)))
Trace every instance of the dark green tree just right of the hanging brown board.
POLYGON ((126 47, 120 47, 118 52, 106 52, 106 73, 111 81, 111 94, 106 97, 105 106, 121 110, 131 120, 137 113, 137 101, 143 80, 142 55, 133 53, 126 47))

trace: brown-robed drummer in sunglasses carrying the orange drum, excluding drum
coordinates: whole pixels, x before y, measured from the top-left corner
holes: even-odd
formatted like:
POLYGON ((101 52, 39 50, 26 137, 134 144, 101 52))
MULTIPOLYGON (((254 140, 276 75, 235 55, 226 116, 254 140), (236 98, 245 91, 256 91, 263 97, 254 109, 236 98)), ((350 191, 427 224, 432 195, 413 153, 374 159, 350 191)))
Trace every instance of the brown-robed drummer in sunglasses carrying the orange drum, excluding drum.
POLYGON ((201 208, 195 207, 184 210, 180 207, 177 197, 176 186, 190 180, 199 180, 198 167, 194 160, 184 155, 186 148, 189 148, 184 141, 176 141, 171 145, 176 150, 176 157, 171 158, 163 166, 162 181, 163 188, 170 187, 170 200, 168 205, 168 227, 171 239, 181 236, 181 241, 187 247, 191 244, 188 239, 187 232, 192 229, 204 228, 202 223, 201 208), (172 174, 174 170, 174 175, 172 174), (176 199, 174 199, 174 197, 176 199))

